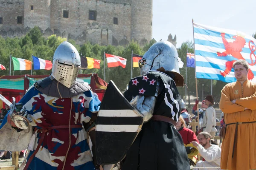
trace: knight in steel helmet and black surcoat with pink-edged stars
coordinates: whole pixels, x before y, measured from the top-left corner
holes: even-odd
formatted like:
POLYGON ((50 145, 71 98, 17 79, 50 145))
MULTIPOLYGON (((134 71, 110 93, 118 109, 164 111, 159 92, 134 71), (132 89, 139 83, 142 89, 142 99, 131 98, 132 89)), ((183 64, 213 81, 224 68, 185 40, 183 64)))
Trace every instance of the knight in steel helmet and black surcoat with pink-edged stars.
POLYGON ((190 170, 186 149, 175 128, 181 110, 177 86, 184 85, 177 50, 168 41, 156 42, 139 66, 141 76, 130 80, 125 96, 143 115, 144 124, 121 169, 190 170))

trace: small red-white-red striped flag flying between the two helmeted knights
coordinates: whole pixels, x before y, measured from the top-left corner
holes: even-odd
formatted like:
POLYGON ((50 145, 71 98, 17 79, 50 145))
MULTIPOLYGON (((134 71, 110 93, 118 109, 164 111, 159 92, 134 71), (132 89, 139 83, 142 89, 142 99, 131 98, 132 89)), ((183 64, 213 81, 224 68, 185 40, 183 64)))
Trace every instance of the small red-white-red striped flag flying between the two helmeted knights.
POLYGON ((108 62, 108 68, 121 66, 125 68, 127 59, 115 56, 112 54, 105 54, 108 62))

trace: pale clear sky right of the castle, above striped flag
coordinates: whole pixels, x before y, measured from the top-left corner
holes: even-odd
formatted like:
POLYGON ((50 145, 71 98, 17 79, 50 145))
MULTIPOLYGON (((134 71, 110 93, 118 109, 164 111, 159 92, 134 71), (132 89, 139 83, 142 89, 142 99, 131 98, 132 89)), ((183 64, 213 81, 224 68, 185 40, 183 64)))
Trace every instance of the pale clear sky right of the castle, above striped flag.
POLYGON ((194 23, 256 32, 256 0, 153 0, 153 35, 156 40, 177 36, 176 48, 193 41, 194 23))

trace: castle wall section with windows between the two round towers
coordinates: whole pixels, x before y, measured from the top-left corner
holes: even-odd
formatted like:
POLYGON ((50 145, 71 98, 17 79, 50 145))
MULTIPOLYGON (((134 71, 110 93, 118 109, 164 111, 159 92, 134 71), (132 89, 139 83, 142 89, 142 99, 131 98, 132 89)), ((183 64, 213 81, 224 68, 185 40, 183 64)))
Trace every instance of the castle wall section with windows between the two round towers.
MULTIPOLYGON (((114 1, 114 0, 112 0, 114 1)), ((108 30, 108 44, 112 44, 112 32, 116 40, 131 37, 131 6, 128 4, 105 1, 79 0, 51 2, 51 29, 67 31, 70 37, 79 40, 88 39, 101 44, 102 30, 108 30), (69 11, 69 17, 63 17, 63 10, 69 11), (96 11, 96 20, 89 20, 89 10, 96 11), (113 24, 113 17, 118 18, 118 25, 113 24), (89 38, 90 37, 90 38, 89 38)))

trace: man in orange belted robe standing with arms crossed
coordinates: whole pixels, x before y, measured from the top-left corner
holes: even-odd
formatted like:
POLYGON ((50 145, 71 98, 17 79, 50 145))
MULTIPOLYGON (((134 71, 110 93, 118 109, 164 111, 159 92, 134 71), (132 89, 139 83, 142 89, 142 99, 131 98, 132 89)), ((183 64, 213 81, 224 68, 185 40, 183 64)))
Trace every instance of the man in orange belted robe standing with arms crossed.
POLYGON ((221 147, 221 169, 256 169, 256 83, 247 79, 245 60, 233 63, 236 82, 221 91, 226 136, 221 147))

